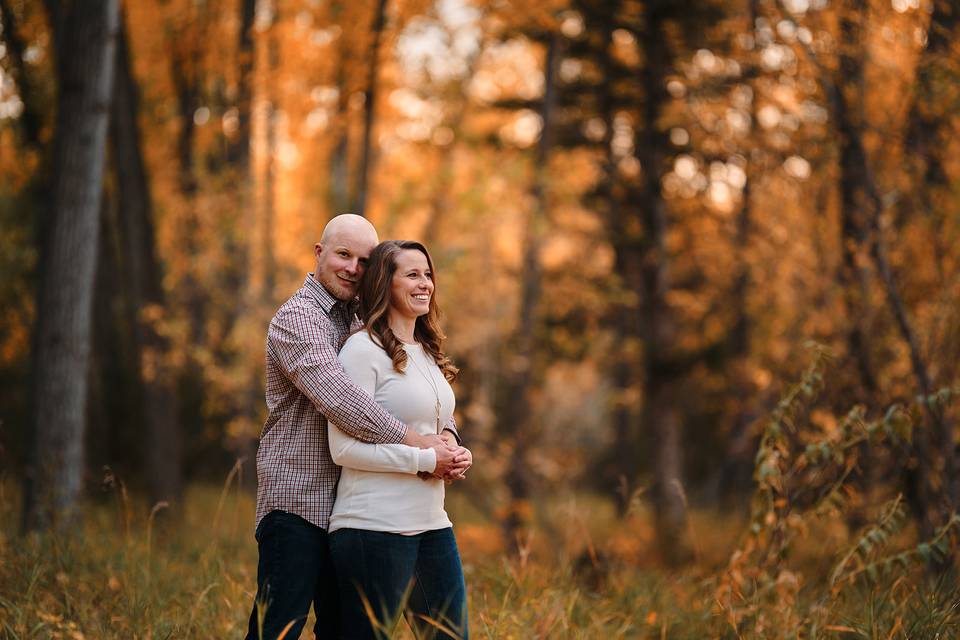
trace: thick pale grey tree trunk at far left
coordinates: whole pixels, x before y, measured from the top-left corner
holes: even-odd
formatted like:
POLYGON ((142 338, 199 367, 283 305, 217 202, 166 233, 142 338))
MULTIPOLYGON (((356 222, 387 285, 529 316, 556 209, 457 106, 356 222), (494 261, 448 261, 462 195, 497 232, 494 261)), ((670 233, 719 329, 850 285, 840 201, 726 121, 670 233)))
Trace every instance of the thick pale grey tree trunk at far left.
POLYGON ((28 528, 77 514, 117 0, 49 2, 59 86, 53 214, 37 305, 28 528))

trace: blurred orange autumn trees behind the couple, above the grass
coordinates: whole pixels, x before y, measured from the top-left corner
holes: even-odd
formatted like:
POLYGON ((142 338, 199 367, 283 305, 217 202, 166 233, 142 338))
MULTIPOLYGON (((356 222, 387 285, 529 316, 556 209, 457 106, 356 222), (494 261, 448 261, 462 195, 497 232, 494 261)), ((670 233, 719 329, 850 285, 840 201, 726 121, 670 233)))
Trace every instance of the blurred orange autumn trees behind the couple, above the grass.
MULTIPOLYGON (((0 465, 30 504, 104 465, 174 511, 237 458, 250 485, 266 324, 346 210, 434 253, 462 491, 511 542, 588 491, 682 559, 809 341, 827 434, 958 384, 949 0, 135 0, 89 65, 71 7, 0 2, 0 465)), ((903 490, 929 532, 957 415, 921 406, 851 504, 903 490)))

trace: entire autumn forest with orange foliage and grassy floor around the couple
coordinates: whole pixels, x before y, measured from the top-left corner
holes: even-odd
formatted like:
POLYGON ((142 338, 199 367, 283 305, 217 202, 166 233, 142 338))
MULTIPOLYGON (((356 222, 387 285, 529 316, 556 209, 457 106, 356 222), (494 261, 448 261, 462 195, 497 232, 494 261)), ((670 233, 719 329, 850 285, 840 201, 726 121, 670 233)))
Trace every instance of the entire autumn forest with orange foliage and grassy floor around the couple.
POLYGON ((343 212, 435 261, 472 635, 960 635, 953 0, 0 9, 0 638, 240 636, 343 212))

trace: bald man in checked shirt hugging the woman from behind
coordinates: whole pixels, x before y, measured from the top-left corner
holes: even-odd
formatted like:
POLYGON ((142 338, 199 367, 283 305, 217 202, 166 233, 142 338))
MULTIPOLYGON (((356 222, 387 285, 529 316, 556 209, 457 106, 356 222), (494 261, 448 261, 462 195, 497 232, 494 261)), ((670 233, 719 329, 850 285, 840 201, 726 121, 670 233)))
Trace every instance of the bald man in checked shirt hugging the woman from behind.
POLYGON ((337 351, 356 321, 355 296, 377 232, 366 219, 333 218, 314 247, 317 266, 267 331, 267 421, 257 450, 257 597, 247 640, 299 638, 313 604, 317 638, 337 637, 339 604, 326 528, 340 468, 327 420, 365 442, 436 453, 433 474, 463 476, 470 456, 456 426, 421 436, 384 411, 344 373, 337 351))

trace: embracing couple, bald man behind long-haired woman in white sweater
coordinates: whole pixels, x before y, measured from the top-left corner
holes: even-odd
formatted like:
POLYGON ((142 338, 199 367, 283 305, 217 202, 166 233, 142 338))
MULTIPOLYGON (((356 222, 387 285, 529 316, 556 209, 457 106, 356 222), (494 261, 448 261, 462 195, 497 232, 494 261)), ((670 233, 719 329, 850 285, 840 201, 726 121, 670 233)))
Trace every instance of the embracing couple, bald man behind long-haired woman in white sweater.
POLYGON ((466 638, 466 586, 445 482, 460 445, 434 270, 418 242, 333 218, 316 270, 267 332, 257 451, 257 596, 247 640, 466 638), (284 630, 286 633, 284 634, 284 630))

